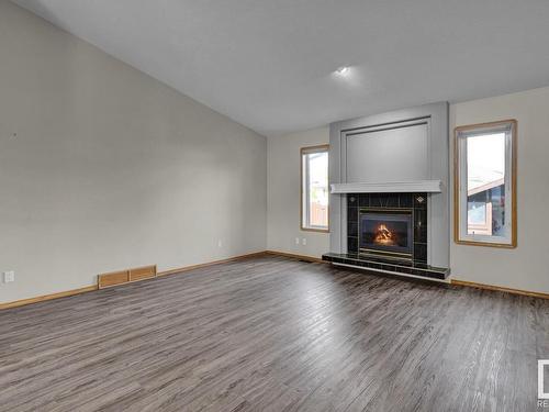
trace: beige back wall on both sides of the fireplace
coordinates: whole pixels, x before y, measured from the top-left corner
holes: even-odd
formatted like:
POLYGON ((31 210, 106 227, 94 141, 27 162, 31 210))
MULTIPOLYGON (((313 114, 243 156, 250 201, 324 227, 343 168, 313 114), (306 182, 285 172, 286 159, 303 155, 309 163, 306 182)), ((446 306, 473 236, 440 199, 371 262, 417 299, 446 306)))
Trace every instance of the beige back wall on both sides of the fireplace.
MULTIPOLYGON (((458 125, 518 121, 518 247, 451 243, 452 277, 549 293, 549 88, 450 105, 450 140, 458 125)), ((269 249, 321 256, 326 234, 300 231, 300 147, 327 143, 328 127, 268 140, 269 249), (295 245, 295 237, 307 245, 295 245)), ((450 144, 450 147, 453 147, 450 144)), ((453 178, 453 177, 452 177, 453 178)), ((453 216, 453 211, 450 214, 453 216)))

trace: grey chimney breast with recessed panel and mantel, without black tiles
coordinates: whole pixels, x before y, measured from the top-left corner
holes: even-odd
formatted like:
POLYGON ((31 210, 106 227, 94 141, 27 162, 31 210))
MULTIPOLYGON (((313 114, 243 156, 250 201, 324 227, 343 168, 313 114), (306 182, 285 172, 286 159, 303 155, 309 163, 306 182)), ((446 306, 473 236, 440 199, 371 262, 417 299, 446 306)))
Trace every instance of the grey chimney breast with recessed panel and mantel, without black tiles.
POLYGON ((427 263, 448 268, 448 103, 332 123, 329 145, 329 252, 347 253, 347 193, 424 192, 427 263))

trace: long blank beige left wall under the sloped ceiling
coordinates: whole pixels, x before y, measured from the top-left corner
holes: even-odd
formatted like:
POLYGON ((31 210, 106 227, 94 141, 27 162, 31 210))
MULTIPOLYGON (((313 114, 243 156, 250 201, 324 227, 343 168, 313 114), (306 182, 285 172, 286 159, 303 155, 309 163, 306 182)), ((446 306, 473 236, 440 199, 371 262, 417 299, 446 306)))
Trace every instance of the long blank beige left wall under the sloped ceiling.
POLYGON ((0 302, 266 248, 265 137, 4 0, 0 62, 0 302))

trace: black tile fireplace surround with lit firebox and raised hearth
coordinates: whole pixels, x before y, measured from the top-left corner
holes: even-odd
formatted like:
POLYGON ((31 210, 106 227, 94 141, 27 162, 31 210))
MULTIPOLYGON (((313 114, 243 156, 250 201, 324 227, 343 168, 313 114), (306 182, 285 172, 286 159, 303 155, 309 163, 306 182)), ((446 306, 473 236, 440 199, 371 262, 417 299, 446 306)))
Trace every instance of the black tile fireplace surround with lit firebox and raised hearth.
POLYGON ((391 274, 446 279, 428 264, 429 196, 426 192, 347 193, 347 249, 323 259, 391 274))

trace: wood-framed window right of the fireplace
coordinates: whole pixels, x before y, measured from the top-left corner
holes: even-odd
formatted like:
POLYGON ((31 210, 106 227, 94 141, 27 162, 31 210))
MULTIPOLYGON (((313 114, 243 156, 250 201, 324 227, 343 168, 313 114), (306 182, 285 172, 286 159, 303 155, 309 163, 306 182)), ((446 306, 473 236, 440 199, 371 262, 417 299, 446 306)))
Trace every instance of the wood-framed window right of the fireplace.
POLYGON ((516 121, 456 129, 457 243, 516 246, 516 121))

